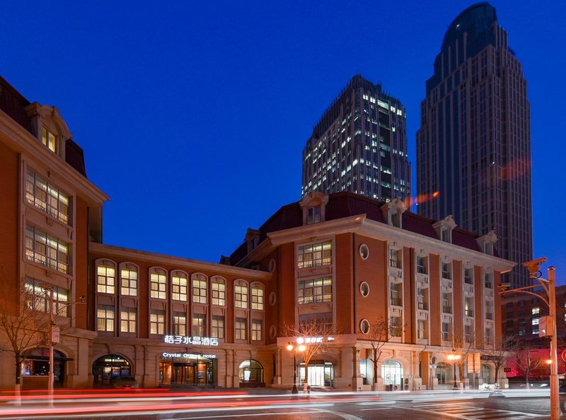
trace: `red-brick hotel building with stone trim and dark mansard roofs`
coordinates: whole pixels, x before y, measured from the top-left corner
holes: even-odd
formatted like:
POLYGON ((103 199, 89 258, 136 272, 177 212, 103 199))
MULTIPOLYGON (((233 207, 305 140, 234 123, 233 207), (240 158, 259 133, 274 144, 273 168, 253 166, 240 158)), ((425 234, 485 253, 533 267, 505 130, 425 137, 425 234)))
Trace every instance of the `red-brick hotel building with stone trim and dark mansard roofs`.
MULTIPOLYGON (((514 263, 497 256, 492 233, 415 215, 398 199, 312 192, 248 229, 215 264, 103 244, 105 200, 57 109, 0 78, 0 312, 21 316, 30 295, 45 301, 45 317, 56 306, 56 386, 135 376, 144 387, 289 389, 287 344, 298 336, 287 332, 315 322, 331 331, 308 337, 326 342, 309 360, 308 383, 369 390, 379 319, 388 325, 379 389, 448 388, 454 369, 466 384, 496 380, 480 356, 501 334, 494 291, 514 263), (464 347, 462 370, 449 356, 464 347)), ((0 345, 0 388, 11 388, 4 330, 0 345)), ((47 338, 22 350, 23 387, 45 386, 47 338)), ((300 352, 296 363, 301 381, 300 352)))

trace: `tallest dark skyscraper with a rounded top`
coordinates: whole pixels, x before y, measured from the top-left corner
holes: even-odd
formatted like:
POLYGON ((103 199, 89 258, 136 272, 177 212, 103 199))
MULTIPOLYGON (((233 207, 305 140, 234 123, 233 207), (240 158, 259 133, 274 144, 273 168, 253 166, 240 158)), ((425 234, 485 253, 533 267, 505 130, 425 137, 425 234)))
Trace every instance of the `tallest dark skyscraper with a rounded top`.
MULTIPOLYGON (((495 8, 470 6, 451 23, 427 80, 417 132, 418 212, 495 230, 499 255, 533 255, 531 128, 521 63, 495 8)), ((531 284, 520 265, 509 276, 531 284)))

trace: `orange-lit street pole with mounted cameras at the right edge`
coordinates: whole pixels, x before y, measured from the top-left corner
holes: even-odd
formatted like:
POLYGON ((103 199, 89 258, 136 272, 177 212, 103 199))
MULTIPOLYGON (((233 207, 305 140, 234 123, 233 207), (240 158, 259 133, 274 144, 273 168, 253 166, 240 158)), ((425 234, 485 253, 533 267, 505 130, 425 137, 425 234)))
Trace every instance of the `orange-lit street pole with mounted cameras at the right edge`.
MULTIPOLYGON (((548 317, 546 318, 546 335, 550 335, 550 420, 560 419, 560 405, 558 400, 558 340, 556 337, 556 290, 554 280, 554 266, 548 268, 548 279, 541 278, 541 264, 546 261, 546 257, 523 263, 524 267, 529 270, 531 279, 536 280, 538 284, 532 286, 518 287, 517 289, 508 289, 509 283, 499 284, 499 294, 507 294, 514 292, 523 292, 533 294, 548 305, 548 317), (529 289, 535 287, 543 287, 548 299, 538 293, 531 292, 529 289)), ((548 361, 547 361, 548 363, 548 361)))

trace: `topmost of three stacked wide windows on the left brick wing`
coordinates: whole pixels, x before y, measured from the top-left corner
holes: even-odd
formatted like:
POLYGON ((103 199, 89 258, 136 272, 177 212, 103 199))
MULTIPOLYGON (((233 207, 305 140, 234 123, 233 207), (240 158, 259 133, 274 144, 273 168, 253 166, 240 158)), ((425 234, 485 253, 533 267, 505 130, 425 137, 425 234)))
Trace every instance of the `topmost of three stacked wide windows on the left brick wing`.
POLYGON ((25 199, 60 222, 69 224, 69 196, 31 171, 25 179, 25 199))

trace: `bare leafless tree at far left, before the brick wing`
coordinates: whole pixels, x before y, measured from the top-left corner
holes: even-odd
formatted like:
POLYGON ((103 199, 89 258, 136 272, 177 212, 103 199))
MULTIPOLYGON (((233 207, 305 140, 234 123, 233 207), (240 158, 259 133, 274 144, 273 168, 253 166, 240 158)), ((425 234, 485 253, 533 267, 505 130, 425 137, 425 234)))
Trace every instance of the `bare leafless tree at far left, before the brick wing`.
POLYGON ((50 317, 46 312, 45 296, 34 294, 33 288, 26 286, 24 280, 19 282, 16 290, 10 290, 6 279, 1 279, 1 296, 13 296, 15 291, 17 296, 4 300, 0 309, 0 336, 4 336, 0 339, 0 350, 14 354, 16 394, 19 395, 24 352, 47 342, 50 317))

